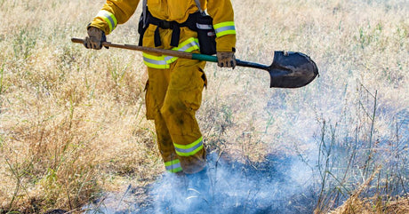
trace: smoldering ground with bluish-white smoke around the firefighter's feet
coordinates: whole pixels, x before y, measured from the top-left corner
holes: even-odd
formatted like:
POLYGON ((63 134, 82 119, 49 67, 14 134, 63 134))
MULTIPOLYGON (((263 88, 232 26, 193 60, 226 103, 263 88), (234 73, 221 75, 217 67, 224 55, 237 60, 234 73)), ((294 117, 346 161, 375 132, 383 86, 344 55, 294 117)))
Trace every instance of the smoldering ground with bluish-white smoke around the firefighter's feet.
MULTIPOLYGON (((88 213, 310 213, 317 201, 311 170, 296 156, 269 155, 263 162, 208 156, 210 186, 180 190, 180 178, 166 173, 144 188, 128 186, 106 194, 88 213), (190 196, 190 197, 189 197, 190 196), (192 200, 195 204, 192 205, 192 200), (198 202, 198 203, 197 203, 198 202)), ((183 181, 181 181, 183 182, 183 181)), ((183 185, 183 184, 182 184, 183 185)))

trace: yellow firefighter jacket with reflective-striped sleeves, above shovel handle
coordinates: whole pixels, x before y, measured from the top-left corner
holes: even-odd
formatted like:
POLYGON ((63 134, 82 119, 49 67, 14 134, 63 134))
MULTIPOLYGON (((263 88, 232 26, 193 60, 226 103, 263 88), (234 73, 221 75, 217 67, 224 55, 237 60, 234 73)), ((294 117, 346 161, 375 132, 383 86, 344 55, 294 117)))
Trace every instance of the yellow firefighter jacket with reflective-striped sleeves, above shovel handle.
MULTIPOLYGON (((118 24, 129 20, 140 0, 107 0, 90 26, 110 34, 118 24)), ((198 11, 195 0, 147 0, 149 12, 160 20, 182 23, 198 11)), ((213 18, 217 52, 232 52, 236 45, 234 12, 230 0, 200 0, 202 10, 213 18)), ((162 34, 161 34, 162 36, 162 34)), ((151 38, 153 40, 153 38, 151 38)), ((180 37, 180 43, 183 42, 180 37)), ((144 44, 152 46, 153 43, 144 44)), ((167 48, 167 47, 162 47, 167 48)))

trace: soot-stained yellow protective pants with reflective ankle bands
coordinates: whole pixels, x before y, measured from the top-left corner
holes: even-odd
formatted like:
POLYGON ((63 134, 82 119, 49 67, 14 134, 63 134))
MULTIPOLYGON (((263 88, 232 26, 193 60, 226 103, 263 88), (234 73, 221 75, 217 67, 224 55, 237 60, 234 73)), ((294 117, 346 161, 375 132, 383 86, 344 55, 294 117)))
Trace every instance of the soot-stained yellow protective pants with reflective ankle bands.
POLYGON ((164 166, 191 174, 206 164, 196 110, 206 85, 205 61, 177 59, 168 69, 148 67, 147 118, 155 120, 164 166))

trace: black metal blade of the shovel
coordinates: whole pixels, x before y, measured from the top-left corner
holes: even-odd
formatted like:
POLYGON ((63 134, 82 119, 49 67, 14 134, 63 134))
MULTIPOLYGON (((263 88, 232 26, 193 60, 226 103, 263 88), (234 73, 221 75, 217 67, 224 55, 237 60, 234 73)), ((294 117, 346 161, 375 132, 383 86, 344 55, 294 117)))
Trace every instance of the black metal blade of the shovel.
POLYGON ((299 88, 318 75, 316 63, 301 52, 274 52, 268 71, 270 88, 299 88))

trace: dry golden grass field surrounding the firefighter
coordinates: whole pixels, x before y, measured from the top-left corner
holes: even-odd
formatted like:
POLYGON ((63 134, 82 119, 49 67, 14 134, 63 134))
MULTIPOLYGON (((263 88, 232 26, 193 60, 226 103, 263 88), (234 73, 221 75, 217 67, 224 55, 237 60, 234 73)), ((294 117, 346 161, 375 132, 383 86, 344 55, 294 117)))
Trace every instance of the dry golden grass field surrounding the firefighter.
MULTIPOLYGON (((69 40, 85 36, 103 3, 0 0, 1 213, 80 211, 164 171, 144 115, 140 52, 69 40)), ((238 59, 270 64, 274 51, 304 52, 320 76, 301 89, 269 89, 265 71, 209 63, 197 112, 209 154, 253 173, 272 156, 297 159, 284 166, 310 187, 307 213, 407 208, 407 1, 232 4, 238 59)), ((108 40, 137 44, 139 14, 108 40)))

